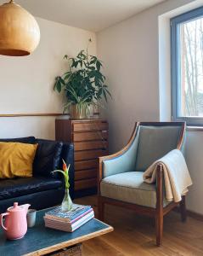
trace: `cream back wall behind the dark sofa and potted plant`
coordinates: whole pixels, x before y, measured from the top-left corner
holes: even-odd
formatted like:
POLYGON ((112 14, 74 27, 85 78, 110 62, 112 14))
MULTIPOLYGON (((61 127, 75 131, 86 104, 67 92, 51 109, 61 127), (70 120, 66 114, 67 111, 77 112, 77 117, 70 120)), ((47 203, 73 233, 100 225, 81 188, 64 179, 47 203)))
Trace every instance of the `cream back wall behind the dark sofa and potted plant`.
MULTIPOLYGON (((41 41, 25 57, 0 55, 0 114, 62 113, 63 97, 54 92, 54 78, 67 68, 65 54, 75 56, 93 39, 93 32, 37 18, 41 41)), ((34 135, 54 138, 54 117, 0 118, 0 137, 34 135)))

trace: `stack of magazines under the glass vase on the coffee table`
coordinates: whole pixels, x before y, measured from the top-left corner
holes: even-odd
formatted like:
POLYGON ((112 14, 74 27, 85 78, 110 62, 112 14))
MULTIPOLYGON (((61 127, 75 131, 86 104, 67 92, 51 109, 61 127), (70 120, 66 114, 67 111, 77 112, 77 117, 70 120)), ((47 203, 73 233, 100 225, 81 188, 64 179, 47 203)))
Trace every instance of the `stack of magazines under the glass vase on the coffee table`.
POLYGON ((93 217, 92 207, 73 204, 72 209, 68 212, 62 212, 61 207, 55 207, 46 212, 44 221, 48 228, 73 232, 93 217))

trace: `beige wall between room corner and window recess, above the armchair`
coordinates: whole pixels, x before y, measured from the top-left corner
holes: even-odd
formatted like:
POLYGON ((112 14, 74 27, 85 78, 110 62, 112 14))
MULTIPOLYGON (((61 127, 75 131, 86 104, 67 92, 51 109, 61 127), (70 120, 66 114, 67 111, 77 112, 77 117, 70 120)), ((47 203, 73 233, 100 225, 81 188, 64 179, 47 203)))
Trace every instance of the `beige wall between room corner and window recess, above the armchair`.
POLYGON ((97 34, 113 101, 109 103, 110 149, 127 142, 135 120, 159 120, 160 15, 192 0, 169 0, 97 34))

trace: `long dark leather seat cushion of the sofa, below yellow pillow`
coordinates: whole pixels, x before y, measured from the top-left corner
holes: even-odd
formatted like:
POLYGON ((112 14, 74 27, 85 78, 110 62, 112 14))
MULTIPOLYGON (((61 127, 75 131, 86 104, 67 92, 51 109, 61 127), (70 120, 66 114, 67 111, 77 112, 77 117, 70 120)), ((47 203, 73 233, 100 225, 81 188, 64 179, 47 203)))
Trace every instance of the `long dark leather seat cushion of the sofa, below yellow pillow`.
POLYGON ((52 177, 20 177, 5 179, 0 182, 0 200, 30 195, 49 189, 57 189, 63 185, 61 180, 52 177))

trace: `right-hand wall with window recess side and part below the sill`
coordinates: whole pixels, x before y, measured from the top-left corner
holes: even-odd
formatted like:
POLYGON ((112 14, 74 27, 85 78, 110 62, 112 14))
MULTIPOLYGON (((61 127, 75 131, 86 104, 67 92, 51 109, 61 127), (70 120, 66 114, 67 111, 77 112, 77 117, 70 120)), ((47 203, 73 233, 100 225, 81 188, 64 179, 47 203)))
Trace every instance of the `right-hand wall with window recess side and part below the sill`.
MULTIPOLYGON (((168 19, 167 25, 159 27, 159 18, 174 9, 185 8, 188 3, 191 9, 196 2, 203 4, 203 1, 168 0, 98 33, 98 54, 104 61, 113 96, 108 112, 104 113, 110 120, 110 151, 127 143, 135 121, 170 120, 170 63, 167 62, 170 42, 164 41, 170 40, 165 34, 165 30, 170 32, 170 26, 168 19), (159 29, 162 29, 160 38, 159 29), (160 102, 160 96, 164 101, 160 102)), ((196 203, 203 195, 202 141, 203 132, 189 132, 186 158, 194 181, 189 209, 203 214, 203 204, 196 203)))

